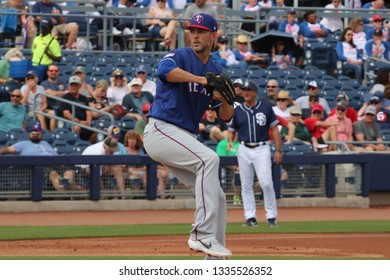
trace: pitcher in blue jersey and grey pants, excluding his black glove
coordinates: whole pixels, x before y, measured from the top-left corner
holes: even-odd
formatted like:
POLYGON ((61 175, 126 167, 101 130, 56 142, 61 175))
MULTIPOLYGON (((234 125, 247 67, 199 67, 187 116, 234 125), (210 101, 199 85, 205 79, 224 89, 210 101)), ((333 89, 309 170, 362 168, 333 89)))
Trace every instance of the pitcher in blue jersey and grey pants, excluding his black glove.
POLYGON ((210 58, 218 24, 209 14, 195 14, 189 29, 191 47, 170 51, 158 63, 156 97, 144 131, 148 155, 161 162, 195 193, 195 222, 188 246, 206 259, 231 256, 225 248, 226 196, 218 178, 219 157, 196 139, 206 109, 215 108, 228 122, 233 106, 207 89, 206 73, 221 73, 210 58))

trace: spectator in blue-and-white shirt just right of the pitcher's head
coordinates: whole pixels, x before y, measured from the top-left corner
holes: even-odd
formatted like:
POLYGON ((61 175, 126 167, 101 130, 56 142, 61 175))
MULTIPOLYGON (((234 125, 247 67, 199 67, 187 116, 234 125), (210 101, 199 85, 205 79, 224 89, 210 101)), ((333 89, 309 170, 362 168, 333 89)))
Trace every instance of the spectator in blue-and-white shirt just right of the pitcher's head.
POLYGON ((226 36, 221 36, 217 39, 217 50, 212 53, 212 57, 222 67, 229 68, 234 65, 237 65, 241 69, 248 67, 245 61, 240 61, 236 58, 233 51, 229 48, 229 40, 226 36))

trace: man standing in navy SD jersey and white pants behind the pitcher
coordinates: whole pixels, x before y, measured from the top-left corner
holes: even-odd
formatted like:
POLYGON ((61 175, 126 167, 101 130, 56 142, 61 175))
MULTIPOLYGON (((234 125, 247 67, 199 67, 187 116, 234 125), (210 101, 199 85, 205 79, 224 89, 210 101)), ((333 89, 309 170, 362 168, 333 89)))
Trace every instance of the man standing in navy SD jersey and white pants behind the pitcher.
POLYGON ((233 121, 229 127, 228 150, 233 146, 233 139, 238 133, 238 166, 241 179, 241 195, 244 205, 246 226, 257 226, 256 201, 253 191, 253 177, 256 172, 263 191, 265 215, 268 225, 276 226, 278 215, 274 184, 272 182, 272 162, 269 147, 269 129, 275 141, 276 163, 282 161, 281 139, 278 119, 272 110, 272 104, 256 100, 257 85, 246 80, 241 86, 245 102, 234 109, 233 121))

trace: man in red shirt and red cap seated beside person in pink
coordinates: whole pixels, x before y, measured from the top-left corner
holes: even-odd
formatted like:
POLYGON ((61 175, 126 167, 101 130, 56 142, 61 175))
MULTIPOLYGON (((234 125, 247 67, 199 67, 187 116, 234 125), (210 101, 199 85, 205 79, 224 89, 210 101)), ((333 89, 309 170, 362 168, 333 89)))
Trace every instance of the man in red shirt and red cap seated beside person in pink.
MULTIPOLYGON (((324 108, 321 104, 316 104, 311 109, 310 118, 305 119, 304 124, 310 130, 313 137, 318 141, 318 144, 326 144, 327 141, 337 141, 337 131, 335 122, 327 122, 322 120, 324 108)), ((329 151, 334 151, 335 145, 329 145, 329 151)))

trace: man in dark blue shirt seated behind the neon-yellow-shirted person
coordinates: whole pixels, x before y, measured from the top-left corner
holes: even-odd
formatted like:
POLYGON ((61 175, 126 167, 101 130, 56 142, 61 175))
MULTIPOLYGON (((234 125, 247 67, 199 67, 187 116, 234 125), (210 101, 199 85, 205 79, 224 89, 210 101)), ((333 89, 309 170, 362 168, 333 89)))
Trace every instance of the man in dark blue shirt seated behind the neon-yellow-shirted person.
MULTIPOLYGON (((65 48, 67 50, 72 49, 73 44, 76 42, 77 39, 79 27, 77 23, 74 22, 66 23, 66 18, 62 16, 63 12, 61 6, 51 2, 51 0, 41 0, 34 4, 34 6, 32 7, 32 12, 34 14, 52 14, 52 17, 48 20, 54 26, 53 36, 57 35, 57 33, 65 35, 67 38, 65 48)), ((41 20, 41 16, 35 16, 36 26, 40 25, 41 20)), ((52 64, 52 62, 48 64, 52 64)))

